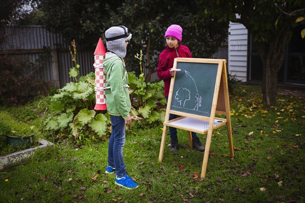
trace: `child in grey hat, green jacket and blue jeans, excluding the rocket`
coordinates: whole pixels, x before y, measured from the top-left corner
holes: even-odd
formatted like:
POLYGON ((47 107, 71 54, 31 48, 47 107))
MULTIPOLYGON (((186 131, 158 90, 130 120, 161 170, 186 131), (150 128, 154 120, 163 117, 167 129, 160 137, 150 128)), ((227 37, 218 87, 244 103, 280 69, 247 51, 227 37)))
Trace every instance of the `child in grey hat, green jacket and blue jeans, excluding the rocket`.
POLYGON ((125 26, 113 26, 106 30, 105 37, 108 52, 103 60, 106 75, 104 89, 112 127, 105 173, 116 172, 115 184, 133 189, 137 188, 138 184, 126 174, 126 165, 123 161, 123 147, 126 140, 125 124, 131 123, 128 75, 123 58, 126 56, 126 48, 132 34, 125 26))

